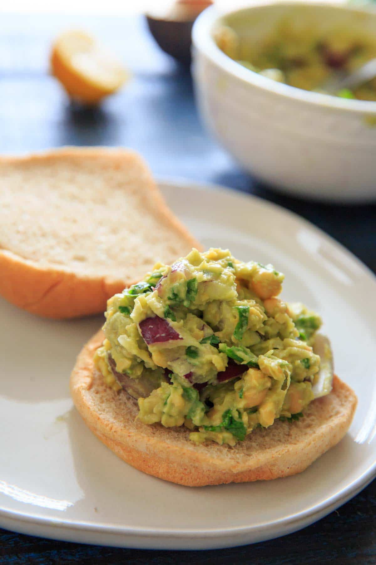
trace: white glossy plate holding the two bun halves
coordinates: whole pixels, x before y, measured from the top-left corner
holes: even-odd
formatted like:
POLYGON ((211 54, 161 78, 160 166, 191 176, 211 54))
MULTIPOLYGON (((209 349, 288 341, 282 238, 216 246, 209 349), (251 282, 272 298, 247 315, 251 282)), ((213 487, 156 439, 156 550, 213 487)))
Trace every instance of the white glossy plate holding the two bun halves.
POLYGON ((209 549, 293 532, 354 496, 376 469, 376 280, 306 221, 213 186, 161 182, 205 247, 271 262, 284 297, 322 314, 336 370, 359 398, 350 432, 307 471, 275 481, 187 488, 118 459, 83 423, 70 370, 101 318, 51 321, 0 302, 0 525, 114 546, 209 549))

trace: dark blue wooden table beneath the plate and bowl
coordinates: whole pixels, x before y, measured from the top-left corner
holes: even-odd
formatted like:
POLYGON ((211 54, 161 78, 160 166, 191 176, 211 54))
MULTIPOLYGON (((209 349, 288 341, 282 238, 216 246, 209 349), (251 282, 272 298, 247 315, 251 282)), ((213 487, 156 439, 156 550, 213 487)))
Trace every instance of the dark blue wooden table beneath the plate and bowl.
MULTIPOLYGON (((376 206, 303 202, 256 184, 207 136, 194 106, 189 73, 154 45, 142 18, 1 16, 0 153, 61 145, 132 147, 157 175, 217 182, 276 202, 324 229, 376 272, 376 206), (133 73, 126 88, 98 110, 70 105, 48 75, 52 38, 67 27, 95 33, 133 73)), ((375 509, 373 481, 338 511, 300 532, 201 552, 86 546, 0 530, 0 563, 372 564, 375 509)))

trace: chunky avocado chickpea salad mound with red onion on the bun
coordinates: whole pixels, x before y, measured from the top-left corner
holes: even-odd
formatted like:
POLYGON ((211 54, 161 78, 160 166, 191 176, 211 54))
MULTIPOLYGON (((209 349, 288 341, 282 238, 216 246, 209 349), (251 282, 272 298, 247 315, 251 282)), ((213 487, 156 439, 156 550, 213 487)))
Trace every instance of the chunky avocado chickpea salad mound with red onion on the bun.
POLYGON ((233 446, 298 419, 330 392, 333 371, 328 342, 315 353, 320 317, 277 298, 283 280, 222 249, 158 263, 109 299, 96 366, 138 399, 143 423, 184 425, 196 444, 233 446))

